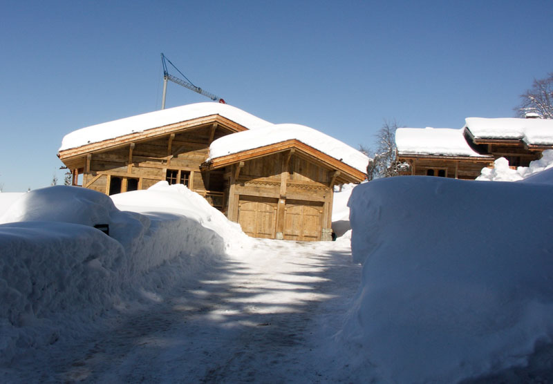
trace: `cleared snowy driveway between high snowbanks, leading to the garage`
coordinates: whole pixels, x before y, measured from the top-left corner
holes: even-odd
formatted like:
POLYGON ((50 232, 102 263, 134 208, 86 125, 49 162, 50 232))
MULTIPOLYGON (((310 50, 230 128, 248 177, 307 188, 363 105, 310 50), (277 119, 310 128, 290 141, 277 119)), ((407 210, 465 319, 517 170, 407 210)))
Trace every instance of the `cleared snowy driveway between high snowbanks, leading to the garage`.
POLYGON ((69 383, 348 381, 332 334, 360 269, 348 240, 253 240, 159 303, 114 316, 77 344, 21 359, 10 376, 69 383))

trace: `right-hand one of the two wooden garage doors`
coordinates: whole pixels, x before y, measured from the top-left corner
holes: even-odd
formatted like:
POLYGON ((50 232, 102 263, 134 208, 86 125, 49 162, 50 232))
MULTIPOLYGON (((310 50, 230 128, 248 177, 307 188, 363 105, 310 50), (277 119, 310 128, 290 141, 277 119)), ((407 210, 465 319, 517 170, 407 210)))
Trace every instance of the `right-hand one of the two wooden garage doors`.
POLYGON ((322 203, 319 206, 319 204, 312 202, 288 201, 284 214, 283 235, 285 240, 321 240, 322 216, 322 203))

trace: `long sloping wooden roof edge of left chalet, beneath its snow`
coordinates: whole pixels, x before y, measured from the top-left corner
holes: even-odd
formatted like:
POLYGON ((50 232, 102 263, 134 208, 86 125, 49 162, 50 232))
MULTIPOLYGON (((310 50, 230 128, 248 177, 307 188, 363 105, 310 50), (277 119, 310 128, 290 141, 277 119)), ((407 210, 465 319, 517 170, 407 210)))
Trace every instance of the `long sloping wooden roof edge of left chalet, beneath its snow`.
POLYGON ((209 115, 205 117, 198 117, 196 119, 186 120, 184 122, 151 128, 146 131, 133 132, 129 133, 128 135, 114 137, 113 139, 103 140, 101 142, 94 142, 75 148, 64 149, 63 151, 59 151, 59 153, 57 153, 57 157, 59 157, 59 160, 62 160, 62 162, 65 163, 66 161, 73 160, 75 157, 87 155, 88 153, 115 149, 133 142, 151 140, 154 138, 163 137, 165 135, 170 135, 171 133, 188 131, 203 126, 209 126, 215 123, 218 127, 225 128, 231 133, 247 131, 247 128, 245 126, 233 122, 232 120, 227 119, 227 117, 223 117, 221 115, 209 115))

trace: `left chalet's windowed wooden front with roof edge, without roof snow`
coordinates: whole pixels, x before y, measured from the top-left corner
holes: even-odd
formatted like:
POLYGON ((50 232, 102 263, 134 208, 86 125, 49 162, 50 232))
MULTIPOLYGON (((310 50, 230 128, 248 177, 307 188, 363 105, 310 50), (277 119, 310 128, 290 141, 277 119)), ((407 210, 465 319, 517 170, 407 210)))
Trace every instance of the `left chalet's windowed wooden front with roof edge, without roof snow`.
POLYGON ((167 180, 185 184, 223 209, 223 172, 200 172, 200 164, 207 159, 211 142, 245 130, 212 115, 71 148, 58 156, 73 173, 73 185, 113 195, 167 180))

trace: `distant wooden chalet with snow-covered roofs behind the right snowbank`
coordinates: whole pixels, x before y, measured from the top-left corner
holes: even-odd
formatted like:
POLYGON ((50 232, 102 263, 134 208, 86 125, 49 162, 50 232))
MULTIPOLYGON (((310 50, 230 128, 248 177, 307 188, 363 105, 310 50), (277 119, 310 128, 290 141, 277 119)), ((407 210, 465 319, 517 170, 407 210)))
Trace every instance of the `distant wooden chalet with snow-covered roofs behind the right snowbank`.
POLYGON ((474 180, 499 157, 516 168, 553 148, 552 120, 467 117, 465 122, 461 129, 398 128, 397 159, 409 164, 402 174, 474 180))

